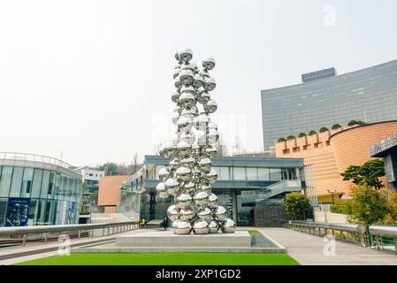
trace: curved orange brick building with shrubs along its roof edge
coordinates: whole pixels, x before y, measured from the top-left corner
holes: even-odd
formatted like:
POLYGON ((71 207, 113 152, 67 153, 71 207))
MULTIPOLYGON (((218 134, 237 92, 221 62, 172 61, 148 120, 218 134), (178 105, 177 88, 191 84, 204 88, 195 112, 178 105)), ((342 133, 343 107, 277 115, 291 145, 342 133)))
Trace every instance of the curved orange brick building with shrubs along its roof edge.
MULTIPOLYGON (((276 143, 276 157, 303 158, 311 166, 317 195, 348 195, 352 183, 340 173, 370 160, 370 145, 397 132, 397 120, 340 129, 276 143)), ((375 155, 373 155, 375 157, 375 155)), ((383 179, 386 183, 386 179, 383 179)), ((331 198, 327 198, 331 200, 331 198)))

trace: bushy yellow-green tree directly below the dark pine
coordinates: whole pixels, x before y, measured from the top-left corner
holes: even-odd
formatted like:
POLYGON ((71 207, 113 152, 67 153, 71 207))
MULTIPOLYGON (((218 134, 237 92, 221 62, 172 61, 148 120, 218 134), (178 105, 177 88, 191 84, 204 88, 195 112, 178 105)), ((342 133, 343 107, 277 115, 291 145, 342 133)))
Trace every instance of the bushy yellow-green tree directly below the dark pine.
POLYGON ((349 221, 363 226, 379 224, 389 212, 384 190, 359 185, 352 188, 352 199, 347 201, 349 221))

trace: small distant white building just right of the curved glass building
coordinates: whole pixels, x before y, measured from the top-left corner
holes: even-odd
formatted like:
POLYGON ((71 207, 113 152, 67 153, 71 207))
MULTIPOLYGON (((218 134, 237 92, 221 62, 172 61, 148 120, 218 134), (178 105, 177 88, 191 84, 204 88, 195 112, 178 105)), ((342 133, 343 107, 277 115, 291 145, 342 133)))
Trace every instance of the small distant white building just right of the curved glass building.
POLYGON ((88 166, 78 168, 83 177, 83 196, 81 211, 97 212, 99 179, 104 176, 104 171, 88 166))

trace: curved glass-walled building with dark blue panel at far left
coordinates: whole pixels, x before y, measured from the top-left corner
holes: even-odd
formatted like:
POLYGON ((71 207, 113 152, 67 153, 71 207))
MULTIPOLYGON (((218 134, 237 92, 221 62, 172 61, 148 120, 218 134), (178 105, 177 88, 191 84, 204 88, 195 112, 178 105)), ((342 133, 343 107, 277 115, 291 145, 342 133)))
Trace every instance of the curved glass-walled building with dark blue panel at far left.
POLYGON ((0 152, 0 226, 76 224, 81 175, 52 157, 0 152))

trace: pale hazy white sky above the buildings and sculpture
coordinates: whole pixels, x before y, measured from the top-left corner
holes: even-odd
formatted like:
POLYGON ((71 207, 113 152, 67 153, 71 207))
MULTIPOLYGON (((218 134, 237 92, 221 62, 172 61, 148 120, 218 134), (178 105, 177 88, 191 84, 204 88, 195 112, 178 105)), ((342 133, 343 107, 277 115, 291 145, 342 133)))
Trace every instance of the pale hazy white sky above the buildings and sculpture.
POLYGON ((214 120, 263 149, 260 91, 397 58, 395 0, 0 1, 0 150, 129 163, 169 133, 174 51, 213 56, 214 120))

